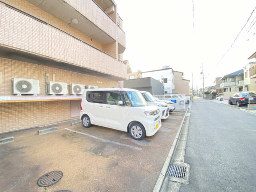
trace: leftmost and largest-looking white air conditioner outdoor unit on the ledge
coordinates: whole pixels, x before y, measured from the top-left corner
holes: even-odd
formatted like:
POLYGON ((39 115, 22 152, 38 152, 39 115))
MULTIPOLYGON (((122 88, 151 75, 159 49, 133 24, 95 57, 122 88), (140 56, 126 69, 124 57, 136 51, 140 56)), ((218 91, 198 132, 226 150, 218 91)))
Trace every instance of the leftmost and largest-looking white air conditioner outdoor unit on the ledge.
POLYGON ((12 78, 13 94, 40 94, 39 80, 12 78))

